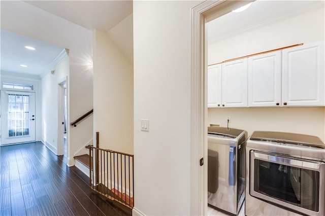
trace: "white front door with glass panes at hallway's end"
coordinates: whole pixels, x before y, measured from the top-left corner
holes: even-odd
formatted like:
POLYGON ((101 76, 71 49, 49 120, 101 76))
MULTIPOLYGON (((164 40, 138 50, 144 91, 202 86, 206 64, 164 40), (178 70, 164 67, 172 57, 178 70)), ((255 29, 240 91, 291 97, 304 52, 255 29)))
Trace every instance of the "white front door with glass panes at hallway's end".
POLYGON ((35 141, 35 93, 1 91, 1 145, 35 141))

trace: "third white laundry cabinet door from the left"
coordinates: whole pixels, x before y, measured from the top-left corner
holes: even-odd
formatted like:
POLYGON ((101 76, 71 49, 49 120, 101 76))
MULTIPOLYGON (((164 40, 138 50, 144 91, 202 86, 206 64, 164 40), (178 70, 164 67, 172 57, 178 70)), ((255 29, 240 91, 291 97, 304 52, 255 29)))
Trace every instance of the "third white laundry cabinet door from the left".
POLYGON ((248 106, 281 105, 281 51, 248 58, 248 106))

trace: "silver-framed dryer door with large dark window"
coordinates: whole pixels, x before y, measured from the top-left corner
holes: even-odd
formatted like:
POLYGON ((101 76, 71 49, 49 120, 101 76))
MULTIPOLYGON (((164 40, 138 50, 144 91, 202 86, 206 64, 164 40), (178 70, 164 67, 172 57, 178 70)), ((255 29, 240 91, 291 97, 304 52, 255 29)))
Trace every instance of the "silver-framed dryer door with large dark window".
POLYGON ((318 212, 324 164, 251 151, 250 194, 299 212, 318 212))

